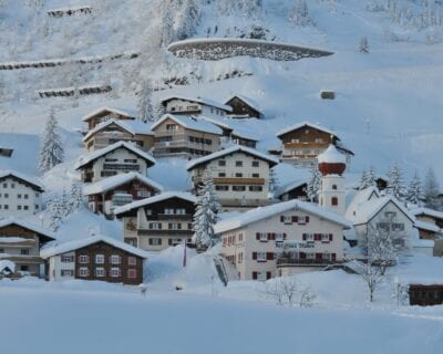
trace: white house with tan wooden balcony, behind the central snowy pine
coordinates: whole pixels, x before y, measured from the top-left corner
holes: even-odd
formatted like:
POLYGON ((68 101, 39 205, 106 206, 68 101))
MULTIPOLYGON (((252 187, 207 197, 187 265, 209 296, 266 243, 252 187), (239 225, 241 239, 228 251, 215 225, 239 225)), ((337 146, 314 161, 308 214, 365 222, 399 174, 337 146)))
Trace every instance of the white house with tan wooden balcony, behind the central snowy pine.
POLYGON ((194 190, 209 169, 222 206, 225 210, 236 210, 270 202, 269 175, 277 164, 275 157, 236 145, 190 160, 186 169, 192 174, 194 190))

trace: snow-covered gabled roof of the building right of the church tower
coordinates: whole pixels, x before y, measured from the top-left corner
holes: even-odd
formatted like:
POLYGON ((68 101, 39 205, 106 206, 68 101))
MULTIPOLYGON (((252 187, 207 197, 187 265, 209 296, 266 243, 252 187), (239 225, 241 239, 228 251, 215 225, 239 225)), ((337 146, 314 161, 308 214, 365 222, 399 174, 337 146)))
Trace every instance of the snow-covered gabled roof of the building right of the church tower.
POLYGON ((389 202, 395 205, 412 222, 415 221, 415 218, 409 212, 409 210, 402 206, 402 204, 392 196, 385 196, 381 198, 375 198, 368 200, 367 202, 362 202, 358 208, 353 210, 349 209, 346 212, 346 217, 349 220, 352 220, 353 225, 362 225, 371 221, 379 212, 387 206, 389 202))

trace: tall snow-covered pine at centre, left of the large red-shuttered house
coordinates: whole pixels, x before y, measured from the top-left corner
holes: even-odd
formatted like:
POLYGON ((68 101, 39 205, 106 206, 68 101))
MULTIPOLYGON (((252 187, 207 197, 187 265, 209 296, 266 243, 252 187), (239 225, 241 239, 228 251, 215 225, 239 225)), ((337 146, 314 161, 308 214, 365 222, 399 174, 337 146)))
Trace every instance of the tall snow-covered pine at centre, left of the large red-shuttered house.
POLYGON ((208 248, 215 244, 214 226, 217 222, 217 214, 220 205, 214 190, 212 171, 206 169, 203 175, 202 186, 198 189, 198 198, 194 215, 193 242, 197 248, 208 248))

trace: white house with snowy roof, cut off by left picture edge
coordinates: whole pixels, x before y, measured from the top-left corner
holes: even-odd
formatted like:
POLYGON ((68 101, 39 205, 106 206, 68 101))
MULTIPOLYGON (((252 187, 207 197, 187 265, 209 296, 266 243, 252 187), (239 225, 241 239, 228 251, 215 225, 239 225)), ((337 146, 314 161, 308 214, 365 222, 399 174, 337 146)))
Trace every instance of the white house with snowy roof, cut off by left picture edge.
POLYGON ((0 217, 29 217, 42 209, 43 185, 13 170, 0 171, 0 217))

